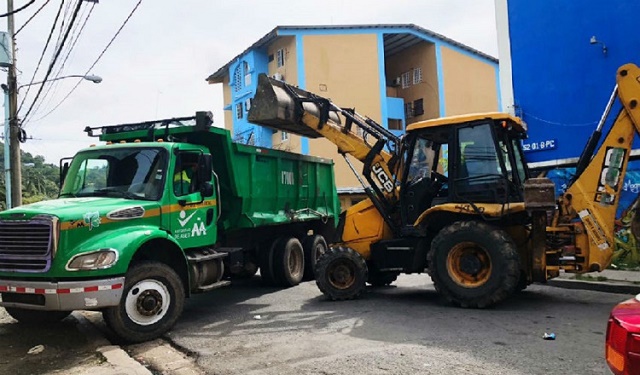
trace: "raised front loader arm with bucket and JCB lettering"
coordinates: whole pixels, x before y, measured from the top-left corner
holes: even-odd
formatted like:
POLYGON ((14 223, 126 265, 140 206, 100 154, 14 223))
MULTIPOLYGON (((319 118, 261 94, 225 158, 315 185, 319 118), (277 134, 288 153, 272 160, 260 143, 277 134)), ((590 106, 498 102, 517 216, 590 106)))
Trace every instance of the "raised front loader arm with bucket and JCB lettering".
MULTIPOLYGON (((383 216, 389 211, 395 200, 400 139, 388 129, 352 109, 340 108, 329 99, 266 74, 258 78, 248 119, 254 124, 329 140, 345 159, 350 155, 364 164, 362 175, 370 185, 365 186, 365 191, 373 188, 377 197, 374 204, 383 216), (344 124, 340 115, 345 118, 344 124)), ((351 163, 349 166, 353 170, 351 163)), ((353 172, 360 178, 357 171, 353 172)))

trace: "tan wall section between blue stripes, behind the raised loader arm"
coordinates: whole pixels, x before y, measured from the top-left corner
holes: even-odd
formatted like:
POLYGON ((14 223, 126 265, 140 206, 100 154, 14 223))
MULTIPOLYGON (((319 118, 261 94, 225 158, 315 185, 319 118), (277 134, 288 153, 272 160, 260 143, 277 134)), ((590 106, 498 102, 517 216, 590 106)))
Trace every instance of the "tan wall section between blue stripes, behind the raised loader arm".
MULTIPOLYGON (((306 90, 316 92, 342 107, 381 121, 378 37, 376 34, 303 36, 306 90)), ((336 146, 324 139, 309 140, 309 154, 335 162, 338 187, 360 183, 336 146)), ((350 159, 358 172, 362 164, 350 159)))

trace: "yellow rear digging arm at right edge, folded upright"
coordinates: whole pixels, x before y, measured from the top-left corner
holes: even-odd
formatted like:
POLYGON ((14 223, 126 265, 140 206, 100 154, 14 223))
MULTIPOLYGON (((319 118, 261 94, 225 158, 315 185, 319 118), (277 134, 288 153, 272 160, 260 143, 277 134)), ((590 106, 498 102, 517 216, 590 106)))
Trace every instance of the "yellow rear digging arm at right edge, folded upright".
POLYGON ((616 96, 623 108, 596 154, 583 171, 577 171, 564 195, 587 232, 576 238, 578 247, 588 249, 584 254, 586 269, 578 271, 601 271, 611 263, 621 187, 634 135, 640 134, 640 69, 633 64, 623 65, 618 69, 616 81, 617 94, 614 91, 601 123, 616 96))

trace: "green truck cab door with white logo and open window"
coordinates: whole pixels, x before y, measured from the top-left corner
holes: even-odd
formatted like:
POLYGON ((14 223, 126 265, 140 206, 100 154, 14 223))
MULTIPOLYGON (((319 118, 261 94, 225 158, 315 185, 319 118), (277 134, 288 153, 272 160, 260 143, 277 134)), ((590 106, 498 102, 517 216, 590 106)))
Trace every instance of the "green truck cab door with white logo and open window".
POLYGON ((204 179, 215 186, 209 176, 202 174, 202 152, 180 151, 172 165, 169 183, 171 204, 169 217, 171 233, 183 248, 212 245, 217 241, 217 202, 215 192, 206 196, 201 189, 204 179))

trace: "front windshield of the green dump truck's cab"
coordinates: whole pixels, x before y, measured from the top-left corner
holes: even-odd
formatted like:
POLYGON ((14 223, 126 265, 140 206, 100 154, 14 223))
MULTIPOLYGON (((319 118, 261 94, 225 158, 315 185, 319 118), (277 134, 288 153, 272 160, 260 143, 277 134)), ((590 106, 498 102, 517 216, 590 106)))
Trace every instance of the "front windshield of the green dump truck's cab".
POLYGON ((166 169, 166 151, 161 148, 81 152, 69 166, 60 196, 158 200, 166 169))

